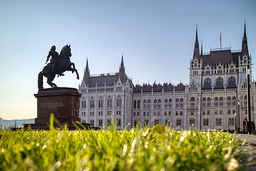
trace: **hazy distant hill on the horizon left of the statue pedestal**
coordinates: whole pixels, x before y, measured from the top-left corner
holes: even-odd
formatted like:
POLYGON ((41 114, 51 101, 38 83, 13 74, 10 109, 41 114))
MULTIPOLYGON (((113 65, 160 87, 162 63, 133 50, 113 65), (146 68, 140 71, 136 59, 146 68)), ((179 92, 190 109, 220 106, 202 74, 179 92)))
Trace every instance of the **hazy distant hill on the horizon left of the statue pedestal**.
POLYGON ((0 118, 0 127, 2 129, 4 128, 8 128, 10 126, 14 126, 15 125, 15 121, 16 121, 16 127, 18 128, 22 128, 22 125, 24 123, 35 123, 35 119, 24 119, 24 120, 2 120, 0 118))

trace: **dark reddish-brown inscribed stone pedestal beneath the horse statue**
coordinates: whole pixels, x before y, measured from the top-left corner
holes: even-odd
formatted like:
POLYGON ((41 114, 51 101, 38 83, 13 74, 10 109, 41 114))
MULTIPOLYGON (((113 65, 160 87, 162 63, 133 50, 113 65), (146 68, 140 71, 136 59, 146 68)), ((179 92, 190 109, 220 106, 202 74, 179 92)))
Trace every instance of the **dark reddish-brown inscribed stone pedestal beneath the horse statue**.
POLYGON ((46 124, 51 113, 61 125, 81 121, 79 118, 79 98, 76 88, 46 88, 34 94, 37 98, 36 124, 46 124))

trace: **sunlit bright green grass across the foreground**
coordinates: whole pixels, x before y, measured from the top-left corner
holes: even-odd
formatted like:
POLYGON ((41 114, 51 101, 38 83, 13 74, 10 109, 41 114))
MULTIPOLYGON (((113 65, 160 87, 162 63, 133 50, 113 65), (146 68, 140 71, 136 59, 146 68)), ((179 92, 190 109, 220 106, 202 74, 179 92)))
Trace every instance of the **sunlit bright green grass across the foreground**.
POLYGON ((235 135, 197 130, 1 131, 0 170, 239 170, 235 135))

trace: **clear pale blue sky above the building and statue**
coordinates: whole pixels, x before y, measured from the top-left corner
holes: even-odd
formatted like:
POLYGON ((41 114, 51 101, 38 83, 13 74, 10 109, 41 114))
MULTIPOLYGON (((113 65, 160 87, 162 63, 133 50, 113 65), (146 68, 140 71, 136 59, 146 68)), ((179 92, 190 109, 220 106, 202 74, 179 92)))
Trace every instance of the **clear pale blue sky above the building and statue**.
MULTIPOLYGON (((0 117, 36 118, 37 76, 51 46, 71 44, 81 78, 118 72, 121 55, 133 83, 188 83, 195 26, 203 52, 241 50, 246 19, 249 53, 256 57, 256 1, 0 1, 0 117)), ((256 68, 253 66, 253 78, 256 68)), ((73 73, 58 86, 78 88, 73 73)), ((46 79, 44 78, 45 88, 46 79)))

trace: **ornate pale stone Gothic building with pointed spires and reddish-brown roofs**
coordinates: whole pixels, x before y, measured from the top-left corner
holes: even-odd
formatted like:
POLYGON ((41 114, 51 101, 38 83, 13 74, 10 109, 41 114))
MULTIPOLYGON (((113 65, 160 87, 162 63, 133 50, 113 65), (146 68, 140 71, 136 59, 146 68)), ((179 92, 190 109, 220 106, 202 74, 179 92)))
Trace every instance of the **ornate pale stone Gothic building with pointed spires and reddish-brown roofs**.
POLYGON ((250 72, 250 111, 256 119, 256 84, 252 81, 252 58, 246 29, 241 51, 220 48, 203 53, 198 30, 190 60, 189 83, 183 85, 133 85, 126 75, 123 56, 117 73, 90 75, 88 60, 81 93, 79 115, 82 123, 105 129, 111 122, 116 129, 168 125, 173 129, 243 130, 247 120, 247 73, 250 72), (201 50, 201 51, 200 51, 201 50), (247 69, 249 67, 249 69, 247 69))

